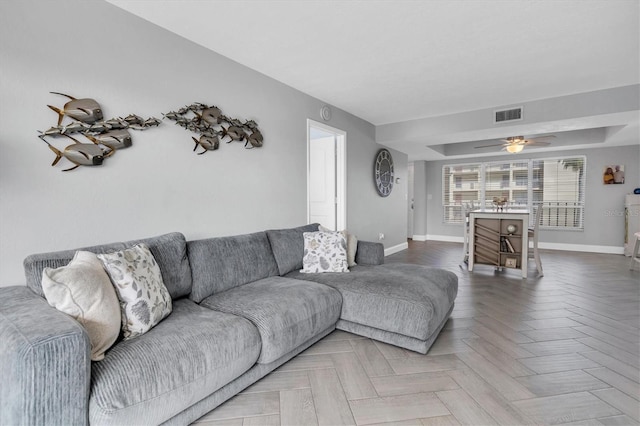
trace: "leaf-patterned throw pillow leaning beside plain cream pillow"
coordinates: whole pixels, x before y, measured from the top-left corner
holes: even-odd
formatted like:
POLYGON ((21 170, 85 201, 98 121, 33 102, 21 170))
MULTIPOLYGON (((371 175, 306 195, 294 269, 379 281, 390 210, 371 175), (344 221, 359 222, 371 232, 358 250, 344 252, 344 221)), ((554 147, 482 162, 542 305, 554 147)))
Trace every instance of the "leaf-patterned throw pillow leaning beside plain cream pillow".
POLYGON ((99 254, 98 259, 118 294, 125 340, 146 333, 171 313, 171 296, 146 244, 99 254))

